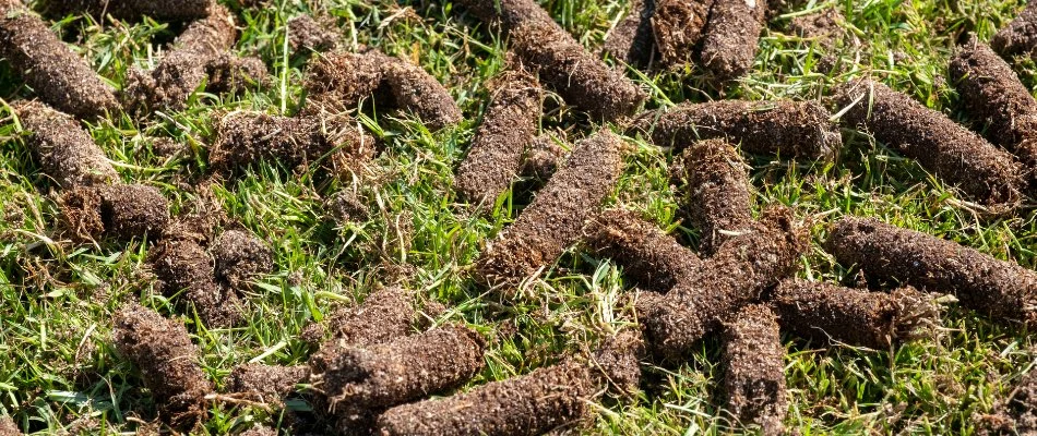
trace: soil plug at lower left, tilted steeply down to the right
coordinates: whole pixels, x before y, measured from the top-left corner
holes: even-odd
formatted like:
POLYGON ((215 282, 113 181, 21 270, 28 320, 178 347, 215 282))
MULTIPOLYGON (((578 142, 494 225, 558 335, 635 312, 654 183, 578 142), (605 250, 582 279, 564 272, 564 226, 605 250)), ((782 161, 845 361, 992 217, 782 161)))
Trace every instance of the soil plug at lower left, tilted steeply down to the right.
POLYGON ((114 324, 116 350, 140 370, 160 417, 180 429, 193 427, 206 414, 205 396, 213 385, 202 373, 198 347, 183 324, 136 303, 123 306, 114 324))

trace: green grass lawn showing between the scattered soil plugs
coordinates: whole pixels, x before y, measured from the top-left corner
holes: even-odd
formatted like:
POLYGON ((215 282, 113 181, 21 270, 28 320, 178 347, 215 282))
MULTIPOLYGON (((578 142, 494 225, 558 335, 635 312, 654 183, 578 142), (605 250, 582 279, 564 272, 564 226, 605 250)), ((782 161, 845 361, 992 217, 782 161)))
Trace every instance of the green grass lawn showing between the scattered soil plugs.
MULTIPOLYGON (((469 386, 529 372, 630 327, 629 307, 617 306, 629 289, 621 269, 579 251, 567 253, 532 284, 537 298, 514 306, 493 301, 468 278, 480 243, 513 220, 529 197, 516 191, 492 214, 477 217, 451 190, 452 171, 486 104, 485 84, 503 65, 505 43, 499 35, 453 11, 449 0, 274 3, 240 13, 243 32, 237 49, 260 56, 279 78, 277 86, 236 98, 198 95, 182 112, 90 126, 122 178, 160 189, 174 213, 189 204, 195 186, 212 184, 227 214, 270 242, 275 272, 248 295, 242 327, 206 329, 193 314, 177 313, 156 294, 144 262, 148 241, 74 244, 58 239, 55 186, 33 162, 9 112, 0 113, 0 414, 12 414, 23 429, 126 433, 153 416, 153 400, 140 387, 140 375, 110 342, 111 315, 128 300, 182 317, 202 350, 206 375, 217 384, 234 365, 257 358, 271 364, 303 363, 309 350, 297 338, 300 330, 336 304, 362 299, 378 283, 400 282, 421 301, 448 304, 452 310, 437 322, 463 320, 492 338, 487 367, 469 386), (271 164, 235 181, 207 180, 205 150, 218 111, 290 113, 300 104, 305 62, 284 52, 284 25, 317 9, 338 17, 356 45, 420 62, 446 84, 468 121, 430 133, 406 117, 378 113, 369 121, 383 150, 353 181, 327 181, 312 171, 271 164), (186 147, 172 157, 158 156, 153 143, 164 137, 186 147), (322 198, 341 190, 360 193, 373 210, 371 219, 336 227, 322 198)), ((601 44, 627 8, 624 0, 541 4, 589 49, 601 44)), ((989 39, 1022 7, 1014 0, 847 0, 796 4, 788 12, 822 5, 838 8, 860 43, 830 50, 850 65, 843 75, 817 71, 824 50, 782 33, 787 16, 772 21, 762 36, 751 75, 724 89, 710 85, 696 69, 629 75, 651 89, 648 107, 666 107, 722 97, 814 99, 850 76, 872 74, 967 122, 946 80, 954 41, 966 32, 989 39)), ((158 44, 175 36, 155 22, 70 17, 53 28, 76 43, 76 50, 117 87, 128 68, 153 66, 158 44)), ((1022 62, 1018 72, 1030 89, 1037 86, 1037 65, 1022 62)), ((31 95, 7 65, 0 66, 5 101, 31 95)), ((556 96, 548 101, 557 109, 545 116, 544 130, 562 129, 579 138, 599 129, 559 107, 556 96)), ((803 277, 853 281, 856 271, 821 249, 827 225, 846 214, 878 217, 1035 266, 1037 223, 1029 202, 1015 217, 985 219, 913 160, 855 132, 846 132, 845 140, 834 164, 751 160, 756 207, 790 205, 810 222, 813 246, 801 262, 803 277)), ((624 174, 608 203, 640 210, 694 245, 698 234, 679 221, 668 185, 671 156, 636 138, 630 143, 624 174)), ((989 412, 1034 362, 1033 339, 1025 331, 999 327, 953 305, 933 338, 892 350, 829 347, 791 336, 784 340, 791 397, 787 425, 802 435, 972 434, 974 416, 989 412)), ((586 433, 739 432, 714 397, 720 375, 717 354, 711 339, 684 365, 646 365, 646 390, 631 401, 603 400, 593 408, 586 433)), ((259 409, 214 405, 204 429, 236 433, 267 419, 259 409)))

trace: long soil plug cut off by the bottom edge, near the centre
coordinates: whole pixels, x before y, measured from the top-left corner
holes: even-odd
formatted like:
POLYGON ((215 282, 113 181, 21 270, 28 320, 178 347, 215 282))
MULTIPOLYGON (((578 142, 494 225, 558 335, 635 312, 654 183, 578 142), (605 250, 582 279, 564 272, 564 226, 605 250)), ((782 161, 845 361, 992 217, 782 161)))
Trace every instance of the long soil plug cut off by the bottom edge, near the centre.
POLYGON ((587 413, 594 393, 587 365, 575 361, 543 367, 464 393, 390 409, 379 433, 392 435, 540 435, 587 413))

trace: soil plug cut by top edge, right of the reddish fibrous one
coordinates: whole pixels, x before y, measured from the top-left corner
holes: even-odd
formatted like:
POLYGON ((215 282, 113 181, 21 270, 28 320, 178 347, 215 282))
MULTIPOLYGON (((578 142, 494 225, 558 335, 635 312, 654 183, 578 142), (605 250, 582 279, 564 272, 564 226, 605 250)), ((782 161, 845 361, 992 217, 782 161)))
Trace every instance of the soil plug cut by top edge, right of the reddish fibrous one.
POLYGON ((715 0, 702 35, 702 66, 722 81, 749 74, 760 48, 766 11, 763 1, 715 0))

